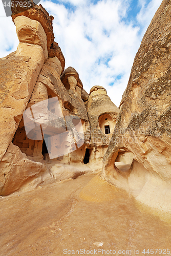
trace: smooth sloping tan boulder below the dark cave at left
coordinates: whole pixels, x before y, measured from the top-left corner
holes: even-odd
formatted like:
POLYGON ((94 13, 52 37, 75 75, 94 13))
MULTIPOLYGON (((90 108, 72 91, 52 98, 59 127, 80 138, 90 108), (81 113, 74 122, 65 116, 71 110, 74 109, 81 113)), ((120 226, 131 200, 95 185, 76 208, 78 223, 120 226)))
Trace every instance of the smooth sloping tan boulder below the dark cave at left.
POLYGON ((48 173, 45 164, 29 160, 19 147, 10 143, 1 161, 1 177, 4 176, 5 179, 3 182, 1 180, 1 195, 6 196, 18 190, 36 178, 40 172, 48 173))

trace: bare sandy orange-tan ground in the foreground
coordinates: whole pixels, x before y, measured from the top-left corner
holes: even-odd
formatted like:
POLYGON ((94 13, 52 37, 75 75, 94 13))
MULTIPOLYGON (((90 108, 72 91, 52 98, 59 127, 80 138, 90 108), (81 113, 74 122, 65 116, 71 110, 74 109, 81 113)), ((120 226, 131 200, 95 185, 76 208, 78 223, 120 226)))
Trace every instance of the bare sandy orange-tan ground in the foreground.
POLYGON ((170 224, 94 175, 2 197, 0 207, 1 256, 171 255, 170 224))

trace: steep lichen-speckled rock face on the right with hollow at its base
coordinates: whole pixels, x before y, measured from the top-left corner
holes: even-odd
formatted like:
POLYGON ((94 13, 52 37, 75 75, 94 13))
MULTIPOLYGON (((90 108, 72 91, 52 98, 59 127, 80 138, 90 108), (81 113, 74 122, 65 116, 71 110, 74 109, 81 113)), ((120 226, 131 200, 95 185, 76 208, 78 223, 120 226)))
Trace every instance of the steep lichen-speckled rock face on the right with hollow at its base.
POLYGON ((101 173, 141 203, 165 211, 171 211, 170 14, 171 2, 163 0, 136 54, 101 173))

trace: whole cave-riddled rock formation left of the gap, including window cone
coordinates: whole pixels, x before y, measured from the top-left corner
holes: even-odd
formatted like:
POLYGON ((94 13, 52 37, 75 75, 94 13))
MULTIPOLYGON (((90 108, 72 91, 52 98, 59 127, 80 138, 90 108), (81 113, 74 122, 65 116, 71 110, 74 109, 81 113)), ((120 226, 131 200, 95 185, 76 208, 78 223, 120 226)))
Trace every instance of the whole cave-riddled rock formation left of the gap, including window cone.
POLYGON ((65 70, 53 17, 41 5, 12 13, 19 45, 0 59, 3 196, 99 172, 119 113, 104 88, 88 95, 76 70, 65 70))

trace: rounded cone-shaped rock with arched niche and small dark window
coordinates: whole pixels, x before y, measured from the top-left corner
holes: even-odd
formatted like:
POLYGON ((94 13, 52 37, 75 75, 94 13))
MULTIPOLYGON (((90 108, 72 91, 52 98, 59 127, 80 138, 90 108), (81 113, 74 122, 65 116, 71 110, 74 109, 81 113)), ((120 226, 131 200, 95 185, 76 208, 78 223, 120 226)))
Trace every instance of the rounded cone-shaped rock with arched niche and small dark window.
POLYGON ((103 87, 94 86, 90 90, 87 112, 91 127, 88 149, 90 154, 89 164, 91 168, 99 171, 102 168, 102 158, 115 128, 119 109, 111 101, 103 87))

